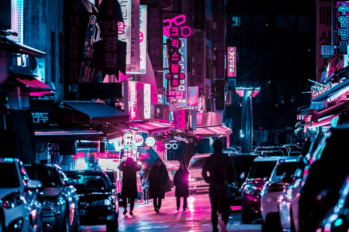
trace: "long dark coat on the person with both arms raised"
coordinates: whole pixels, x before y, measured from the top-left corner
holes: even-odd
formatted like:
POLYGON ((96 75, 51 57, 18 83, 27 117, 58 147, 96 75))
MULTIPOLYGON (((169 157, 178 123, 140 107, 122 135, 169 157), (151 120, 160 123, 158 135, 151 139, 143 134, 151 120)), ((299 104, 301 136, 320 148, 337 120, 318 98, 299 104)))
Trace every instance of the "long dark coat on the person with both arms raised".
POLYGON ((121 195, 131 199, 138 198, 136 172, 141 170, 142 167, 136 162, 127 165, 125 161, 122 161, 118 168, 122 171, 121 195))

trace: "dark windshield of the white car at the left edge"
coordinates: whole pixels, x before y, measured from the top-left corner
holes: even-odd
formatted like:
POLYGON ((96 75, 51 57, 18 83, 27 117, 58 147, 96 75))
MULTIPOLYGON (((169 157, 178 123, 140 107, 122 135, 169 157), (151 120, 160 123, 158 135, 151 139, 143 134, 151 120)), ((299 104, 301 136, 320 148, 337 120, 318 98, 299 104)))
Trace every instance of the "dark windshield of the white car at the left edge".
POLYGON ((14 163, 0 163, 0 188, 20 186, 14 163))

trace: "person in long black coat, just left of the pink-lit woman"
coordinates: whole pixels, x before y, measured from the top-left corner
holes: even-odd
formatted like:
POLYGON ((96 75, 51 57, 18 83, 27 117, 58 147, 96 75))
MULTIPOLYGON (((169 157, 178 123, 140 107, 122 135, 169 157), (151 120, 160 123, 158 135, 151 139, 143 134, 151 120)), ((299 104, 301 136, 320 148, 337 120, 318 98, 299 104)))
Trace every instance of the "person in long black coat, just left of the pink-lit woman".
POLYGON ((169 174, 161 159, 156 159, 149 174, 149 199, 154 199, 154 210, 159 213, 161 200, 165 198, 165 184, 169 174))

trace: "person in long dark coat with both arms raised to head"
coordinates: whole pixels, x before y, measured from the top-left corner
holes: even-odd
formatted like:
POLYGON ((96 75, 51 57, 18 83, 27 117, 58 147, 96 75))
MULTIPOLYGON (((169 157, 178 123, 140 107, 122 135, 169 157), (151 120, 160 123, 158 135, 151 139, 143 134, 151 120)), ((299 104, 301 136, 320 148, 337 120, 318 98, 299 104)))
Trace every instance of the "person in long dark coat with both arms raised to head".
POLYGON ((130 215, 133 215, 134 199, 138 198, 136 173, 141 170, 142 167, 133 161, 131 157, 127 157, 125 161, 120 163, 118 168, 122 171, 121 195, 124 206, 123 215, 127 213, 127 198, 130 199, 130 215))

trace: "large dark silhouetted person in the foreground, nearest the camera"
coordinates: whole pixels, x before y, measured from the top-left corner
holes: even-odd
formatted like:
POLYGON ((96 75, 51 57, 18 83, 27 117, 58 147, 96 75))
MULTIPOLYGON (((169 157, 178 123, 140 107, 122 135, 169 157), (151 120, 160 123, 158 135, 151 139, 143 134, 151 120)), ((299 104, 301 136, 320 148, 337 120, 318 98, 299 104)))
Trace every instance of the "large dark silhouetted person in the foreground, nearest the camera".
POLYGON ((211 201, 211 221, 213 232, 217 232, 218 203, 222 207, 222 221, 219 222, 221 232, 227 232, 229 218, 229 188, 228 183, 233 181, 235 168, 231 159, 222 153, 223 142, 217 139, 213 142, 214 153, 206 158, 202 167, 202 176, 210 185, 209 197, 211 201), (210 175, 207 175, 207 171, 210 175))

